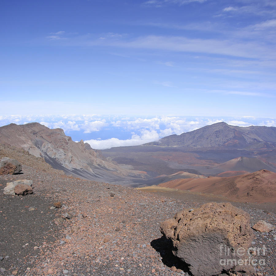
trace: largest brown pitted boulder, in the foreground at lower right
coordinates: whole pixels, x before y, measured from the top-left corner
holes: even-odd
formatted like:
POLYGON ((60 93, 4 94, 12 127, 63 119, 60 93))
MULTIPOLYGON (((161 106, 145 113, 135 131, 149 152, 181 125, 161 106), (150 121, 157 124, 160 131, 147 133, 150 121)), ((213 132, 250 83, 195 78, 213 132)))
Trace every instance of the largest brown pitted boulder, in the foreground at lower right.
POLYGON ((230 203, 212 202, 177 213, 161 223, 160 231, 194 276, 218 275, 233 267, 250 275, 254 269, 248 265, 253 237, 249 218, 230 203))

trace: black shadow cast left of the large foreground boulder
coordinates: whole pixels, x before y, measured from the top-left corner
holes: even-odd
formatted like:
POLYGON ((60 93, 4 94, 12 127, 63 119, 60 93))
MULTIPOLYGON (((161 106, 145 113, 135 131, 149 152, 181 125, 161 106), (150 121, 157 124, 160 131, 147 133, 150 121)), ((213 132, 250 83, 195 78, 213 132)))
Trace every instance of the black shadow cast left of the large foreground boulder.
POLYGON ((171 241, 167 240, 165 235, 159 239, 152 240, 151 246, 160 254, 164 265, 168 267, 175 266, 176 269, 181 269, 183 272, 187 272, 189 275, 192 275, 189 270, 189 266, 173 255, 171 241))

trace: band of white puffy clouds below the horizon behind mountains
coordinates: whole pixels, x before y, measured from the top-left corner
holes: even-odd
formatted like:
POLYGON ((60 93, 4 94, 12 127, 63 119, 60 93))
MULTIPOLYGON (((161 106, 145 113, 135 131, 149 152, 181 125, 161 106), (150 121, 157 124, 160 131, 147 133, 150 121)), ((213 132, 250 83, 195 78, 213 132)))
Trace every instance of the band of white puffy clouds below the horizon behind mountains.
POLYGON ((48 128, 62 128, 74 141, 84 140, 94 149, 136 146, 159 140, 172 134, 193 131, 218 122, 247 127, 276 127, 276 118, 154 116, 126 117, 116 115, 33 115, 0 116, 0 126, 39 122, 48 128))

